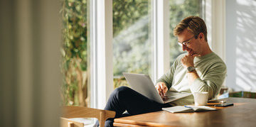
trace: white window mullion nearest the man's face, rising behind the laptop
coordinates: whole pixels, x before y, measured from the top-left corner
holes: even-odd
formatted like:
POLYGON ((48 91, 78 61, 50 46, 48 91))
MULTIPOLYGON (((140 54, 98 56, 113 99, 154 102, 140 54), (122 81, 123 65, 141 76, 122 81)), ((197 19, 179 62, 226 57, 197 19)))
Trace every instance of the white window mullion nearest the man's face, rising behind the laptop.
POLYGON ((159 79, 169 69, 169 1, 152 0, 154 64, 153 81, 159 79))

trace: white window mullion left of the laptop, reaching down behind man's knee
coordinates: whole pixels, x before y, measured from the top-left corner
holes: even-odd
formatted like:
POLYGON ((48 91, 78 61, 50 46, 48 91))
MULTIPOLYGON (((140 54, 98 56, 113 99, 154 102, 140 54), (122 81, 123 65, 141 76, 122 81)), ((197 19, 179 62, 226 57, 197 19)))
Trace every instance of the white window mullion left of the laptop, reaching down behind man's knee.
POLYGON ((92 0, 92 96, 94 108, 103 109, 113 91, 112 0, 92 0))

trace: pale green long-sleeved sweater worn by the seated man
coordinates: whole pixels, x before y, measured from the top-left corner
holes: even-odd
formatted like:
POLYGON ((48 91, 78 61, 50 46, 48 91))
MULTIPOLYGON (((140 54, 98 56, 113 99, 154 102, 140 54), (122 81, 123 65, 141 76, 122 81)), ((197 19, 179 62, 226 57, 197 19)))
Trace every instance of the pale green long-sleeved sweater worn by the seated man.
MULTIPOLYGON (((181 64, 181 58, 186 54, 179 55, 170 70, 164 74, 157 82, 165 82, 168 89, 174 92, 208 92, 208 99, 213 99, 224 82, 226 66, 215 53, 210 53, 202 57, 195 57, 193 60, 196 72, 200 78, 189 85, 187 70, 181 64)), ((174 105, 193 104, 193 95, 171 102, 174 105)))

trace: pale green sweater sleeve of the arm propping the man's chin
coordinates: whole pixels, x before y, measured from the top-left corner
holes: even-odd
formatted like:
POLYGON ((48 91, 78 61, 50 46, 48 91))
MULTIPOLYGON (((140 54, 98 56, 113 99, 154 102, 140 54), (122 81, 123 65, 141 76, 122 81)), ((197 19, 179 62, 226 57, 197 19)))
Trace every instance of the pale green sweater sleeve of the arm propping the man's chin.
POLYGON ((191 92, 208 92, 208 99, 212 99, 220 91, 224 82, 227 70, 223 62, 211 66, 203 78, 197 78, 191 84, 191 92))

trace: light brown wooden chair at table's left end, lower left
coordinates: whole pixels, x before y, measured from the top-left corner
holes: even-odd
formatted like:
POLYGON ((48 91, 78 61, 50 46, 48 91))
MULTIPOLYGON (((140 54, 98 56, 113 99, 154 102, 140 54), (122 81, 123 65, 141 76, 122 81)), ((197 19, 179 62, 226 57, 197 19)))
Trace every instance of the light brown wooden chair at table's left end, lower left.
POLYGON ((114 115, 114 111, 92 109, 83 106, 63 106, 60 125, 62 127, 83 127, 83 123, 70 121, 68 118, 97 118, 100 127, 103 127, 107 118, 114 118, 114 115))

